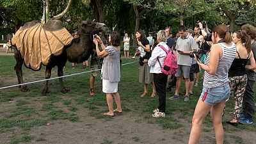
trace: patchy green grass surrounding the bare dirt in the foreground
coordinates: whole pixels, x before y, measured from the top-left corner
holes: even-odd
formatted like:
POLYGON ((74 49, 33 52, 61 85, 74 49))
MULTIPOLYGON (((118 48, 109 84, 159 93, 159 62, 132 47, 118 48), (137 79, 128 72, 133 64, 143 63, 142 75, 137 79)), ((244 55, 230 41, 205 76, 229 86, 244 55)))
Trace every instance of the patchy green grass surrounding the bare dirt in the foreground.
MULTIPOLYGON (((123 63, 129 63, 135 60, 123 59, 123 63)), ((17 83, 16 74, 13 70, 15 60, 12 56, 0 57, 0 87, 8 86, 17 83), (8 81, 6 80, 8 79, 8 81)), ((90 62, 89 62, 90 63, 90 62)), ((191 125, 191 118, 193 116, 196 102, 202 91, 202 83, 198 87, 194 88, 194 96, 191 97, 189 102, 184 102, 182 98, 182 92, 184 90, 184 84, 182 84, 180 90, 181 98, 179 100, 166 99, 166 117, 164 118, 152 118, 152 110, 157 107, 158 99, 151 99, 150 97, 141 98, 143 93, 143 85, 138 83, 138 63, 132 63, 130 65, 122 66, 122 77, 118 86, 118 92, 122 100, 122 109, 124 113, 136 112, 134 115, 138 116, 136 123, 157 124, 163 127, 163 129, 170 129, 175 131, 173 139, 182 140, 182 136, 186 134, 188 125, 191 125)), ((74 74, 77 72, 84 72, 90 68, 83 68, 81 64, 78 67, 72 69, 71 63, 67 63, 64 68, 65 75, 74 74)), ((23 68, 24 82, 35 81, 44 79, 45 67, 38 72, 33 72, 28 68, 23 68)), ((52 69, 52 77, 57 76, 56 68, 52 69)), ((100 76, 95 79, 95 96, 89 95, 89 77, 90 73, 85 73, 72 77, 65 77, 64 84, 66 88, 70 89, 69 93, 61 93, 58 85, 58 80, 49 81, 49 89, 51 93, 46 97, 42 97, 43 83, 29 84, 29 92, 20 92, 17 87, 8 88, 0 91, 0 134, 5 132, 12 132, 13 129, 21 129, 18 134, 13 136, 6 143, 28 143, 29 141, 47 141, 41 136, 31 136, 29 131, 32 128, 40 129, 40 126, 47 125, 52 121, 67 120, 70 122, 81 122, 77 112, 88 109, 91 116, 98 118, 99 120, 106 119, 112 120, 113 118, 106 118, 102 113, 108 111, 106 104, 106 97, 101 92, 100 76), (1 107, 2 106, 2 107, 1 107)), ((148 86, 149 95, 152 92, 152 88, 148 86)), ((166 93, 168 97, 174 94, 172 92, 166 93)), ((228 102, 226 113, 232 111, 234 101, 228 102)), ((226 143, 244 143, 243 138, 234 134, 234 132, 240 131, 252 131, 256 132, 256 124, 250 126, 238 125, 238 127, 231 127, 225 124, 225 121, 230 120, 232 115, 226 114, 223 118, 223 126, 225 132, 228 133, 226 143)), ((256 120, 254 120, 256 122, 256 120)), ((203 132, 212 132, 212 122, 208 115, 205 118, 203 132)), ((210 134, 212 136, 212 133, 210 134)), ((140 142, 141 139, 138 136, 132 138, 135 142, 140 142)), ((2 141, 1 141, 2 142, 2 141)), ((208 143, 215 143, 214 138, 209 138, 208 143)), ((115 143, 113 140, 105 139, 103 143, 115 143)))

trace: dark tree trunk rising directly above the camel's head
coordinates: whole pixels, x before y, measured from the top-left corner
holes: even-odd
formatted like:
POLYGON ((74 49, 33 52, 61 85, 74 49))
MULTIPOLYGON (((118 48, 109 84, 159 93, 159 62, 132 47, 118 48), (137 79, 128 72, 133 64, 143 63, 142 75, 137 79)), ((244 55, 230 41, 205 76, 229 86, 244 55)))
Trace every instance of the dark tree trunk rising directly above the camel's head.
POLYGON ((93 4, 93 13, 95 16, 95 22, 105 22, 105 8, 103 5, 104 1, 102 0, 92 0, 93 4))

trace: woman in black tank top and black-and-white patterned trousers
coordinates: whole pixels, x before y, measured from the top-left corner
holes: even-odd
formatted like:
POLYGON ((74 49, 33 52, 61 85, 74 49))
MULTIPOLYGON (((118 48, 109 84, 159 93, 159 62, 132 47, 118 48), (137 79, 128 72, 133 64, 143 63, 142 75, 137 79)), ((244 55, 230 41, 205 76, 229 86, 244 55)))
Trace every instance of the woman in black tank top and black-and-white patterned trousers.
POLYGON ((230 86, 230 96, 234 97, 234 117, 227 124, 236 126, 243 106, 243 95, 247 84, 247 70, 254 70, 255 60, 251 51, 251 36, 245 31, 236 31, 233 36, 233 42, 236 44, 236 58, 228 70, 228 79, 230 86), (246 65, 250 60, 250 65, 246 65))

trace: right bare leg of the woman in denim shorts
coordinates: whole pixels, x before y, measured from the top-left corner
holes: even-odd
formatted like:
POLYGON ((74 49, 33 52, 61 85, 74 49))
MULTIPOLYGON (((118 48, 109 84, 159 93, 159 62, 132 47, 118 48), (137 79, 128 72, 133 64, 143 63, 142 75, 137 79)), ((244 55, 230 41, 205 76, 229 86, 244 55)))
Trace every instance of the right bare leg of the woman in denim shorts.
POLYGON ((225 102, 220 102, 211 108, 211 118, 215 132, 216 144, 224 143, 224 130, 222 126, 222 112, 225 102))

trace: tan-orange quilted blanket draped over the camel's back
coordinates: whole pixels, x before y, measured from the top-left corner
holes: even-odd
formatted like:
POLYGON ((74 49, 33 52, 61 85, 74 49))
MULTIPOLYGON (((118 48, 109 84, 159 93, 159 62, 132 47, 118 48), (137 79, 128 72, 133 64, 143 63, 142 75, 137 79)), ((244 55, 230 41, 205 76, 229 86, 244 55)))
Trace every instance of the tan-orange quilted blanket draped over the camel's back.
POLYGON ((61 54, 64 45, 72 39, 65 27, 45 30, 44 24, 37 22, 29 28, 21 27, 13 36, 12 44, 20 51, 26 67, 40 70, 42 63, 47 65, 51 55, 61 54))

